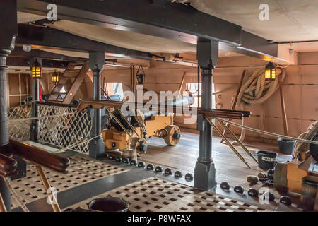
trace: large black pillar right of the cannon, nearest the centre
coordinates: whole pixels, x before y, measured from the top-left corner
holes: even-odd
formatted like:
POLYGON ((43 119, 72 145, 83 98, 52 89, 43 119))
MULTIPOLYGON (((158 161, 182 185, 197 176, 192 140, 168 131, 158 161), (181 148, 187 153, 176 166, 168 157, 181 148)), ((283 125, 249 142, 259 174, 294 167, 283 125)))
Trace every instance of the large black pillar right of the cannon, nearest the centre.
MULTIPOLYGON (((201 109, 212 109, 212 71, 218 61, 218 42, 199 39, 196 47, 196 58, 202 73, 201 109)), ((216 186, 216 169, 212 159, 212 128, 198 114, 197 129, 200 131, 199 157, 194 169, 194 186, 208 190, 216 186)))

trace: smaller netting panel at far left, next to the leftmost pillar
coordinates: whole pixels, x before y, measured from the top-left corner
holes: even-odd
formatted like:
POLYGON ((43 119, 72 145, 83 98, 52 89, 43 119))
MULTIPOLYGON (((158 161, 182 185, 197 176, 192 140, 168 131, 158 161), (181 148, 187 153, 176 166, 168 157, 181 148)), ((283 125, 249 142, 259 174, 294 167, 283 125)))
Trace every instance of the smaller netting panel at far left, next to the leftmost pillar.
POLYGON ((30 126, 32 120, 32 103, 12 107, 8 109, 8 133, 10 138, 17 141, 28 141, 30 139, 30 126))

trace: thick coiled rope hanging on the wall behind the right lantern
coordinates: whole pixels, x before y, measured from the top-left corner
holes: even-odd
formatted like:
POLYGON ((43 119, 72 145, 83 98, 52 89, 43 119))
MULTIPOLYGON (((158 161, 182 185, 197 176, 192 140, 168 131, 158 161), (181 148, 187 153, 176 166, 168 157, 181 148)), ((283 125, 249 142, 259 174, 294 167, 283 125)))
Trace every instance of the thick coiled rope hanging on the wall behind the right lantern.
MULTIPOLYGON (((282 81, 285 78, 285 69, 276 69, 276 79, 274 81, 267 82, 265 80, 265 69, 259 69, 254 71, 252 76, 242 85, 239 95, 237 95, 237 105, 242 106, 245 110, 247 105, 257 105, 266 101, 271 97, 278 89, 278 76, 282 76, 282 81)), ((242 119, 242 125, 244 126, 245 120, 242 119)), ((245 129, 242 127, 240 141, 244 141, 245 129)), ((237 142, 233 142, 233 145, 239 145, 237 142)))

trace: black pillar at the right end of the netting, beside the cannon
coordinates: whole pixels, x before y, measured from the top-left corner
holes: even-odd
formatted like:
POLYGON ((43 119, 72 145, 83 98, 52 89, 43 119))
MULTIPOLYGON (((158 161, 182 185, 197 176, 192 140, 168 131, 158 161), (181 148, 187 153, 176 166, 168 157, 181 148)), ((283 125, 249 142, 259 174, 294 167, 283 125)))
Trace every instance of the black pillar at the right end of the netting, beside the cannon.
MULTIPOLYGON (((90 69, 93 71, 93 100, 101 100, 100 72, 105 64, 105 53, 90 52, 89 59, 90 69)), ((90 115, 93 115, 93 128, 90 136, 100 136, 88 144, 89 156, 93 159, 98 159, 105 153, 105 144, 102 141, 102 110, 93 109, 90 115)))

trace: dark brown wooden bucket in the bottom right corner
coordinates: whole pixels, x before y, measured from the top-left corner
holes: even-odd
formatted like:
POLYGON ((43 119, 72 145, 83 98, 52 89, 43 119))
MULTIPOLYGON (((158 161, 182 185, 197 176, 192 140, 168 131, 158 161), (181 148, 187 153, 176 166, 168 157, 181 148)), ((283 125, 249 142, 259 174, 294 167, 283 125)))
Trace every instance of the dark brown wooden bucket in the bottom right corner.
POLYGON ((300 207, 305 211, 314 210, 317 207, 318 177, 307 176, 302 178, 302 196, 300 207))

